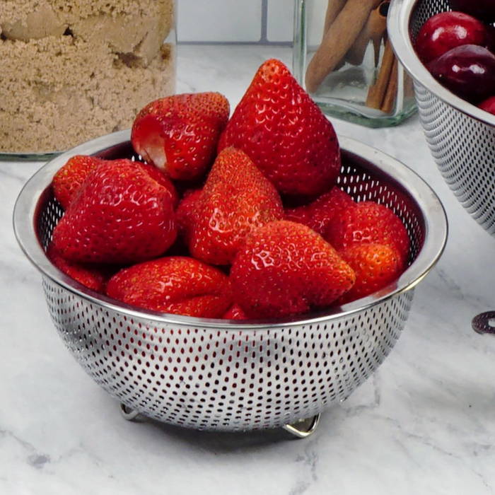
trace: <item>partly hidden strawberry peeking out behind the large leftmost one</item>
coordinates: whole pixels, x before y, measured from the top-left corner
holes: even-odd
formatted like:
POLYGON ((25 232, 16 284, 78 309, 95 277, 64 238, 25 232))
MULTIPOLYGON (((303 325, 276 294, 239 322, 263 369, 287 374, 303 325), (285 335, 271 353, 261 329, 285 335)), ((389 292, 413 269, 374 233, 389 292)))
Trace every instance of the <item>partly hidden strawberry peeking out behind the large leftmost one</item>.
POLYGON ((95 156, 76 155, 63 165, 53 176, 52 188, 55 199, 67 209, 79 186, 88 173, 103 160, 95 156))

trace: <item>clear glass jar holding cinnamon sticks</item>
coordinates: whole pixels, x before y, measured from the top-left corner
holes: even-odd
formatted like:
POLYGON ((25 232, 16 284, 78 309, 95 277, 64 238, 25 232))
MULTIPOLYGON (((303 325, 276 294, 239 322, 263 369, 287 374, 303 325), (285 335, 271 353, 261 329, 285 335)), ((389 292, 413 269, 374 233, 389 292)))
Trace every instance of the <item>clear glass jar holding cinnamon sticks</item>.
POLYGON ((387 36, 390 0, 295 0, 293 73, 327 115, 388 127, 416 111, 387 36))

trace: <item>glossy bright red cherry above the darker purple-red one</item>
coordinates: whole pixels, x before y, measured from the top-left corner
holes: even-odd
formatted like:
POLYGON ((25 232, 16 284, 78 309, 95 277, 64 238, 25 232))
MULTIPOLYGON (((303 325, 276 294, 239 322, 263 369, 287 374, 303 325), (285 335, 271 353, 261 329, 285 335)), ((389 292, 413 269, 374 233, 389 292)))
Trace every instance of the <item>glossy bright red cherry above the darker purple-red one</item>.
POLYGON ((431 16, 421 26, 416 38, 416 51, 426 64, 455 47, 486 47, 490 41, 487 25, 477 18, 462 12, 441 12, 431 16))

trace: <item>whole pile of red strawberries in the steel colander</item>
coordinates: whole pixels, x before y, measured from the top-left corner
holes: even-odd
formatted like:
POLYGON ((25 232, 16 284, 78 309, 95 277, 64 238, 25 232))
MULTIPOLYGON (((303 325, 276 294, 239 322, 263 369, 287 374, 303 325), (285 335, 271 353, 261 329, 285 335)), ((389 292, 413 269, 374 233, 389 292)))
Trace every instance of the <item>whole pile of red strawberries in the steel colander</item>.
POLYGON ((74 156, 47 256, 117 301, 163 313, 278 318, 354 301, 407 267, 402 221, 337 185, 332 124, 276 59, 232 115, 220 93, 146 105, 142 161, 74 156))

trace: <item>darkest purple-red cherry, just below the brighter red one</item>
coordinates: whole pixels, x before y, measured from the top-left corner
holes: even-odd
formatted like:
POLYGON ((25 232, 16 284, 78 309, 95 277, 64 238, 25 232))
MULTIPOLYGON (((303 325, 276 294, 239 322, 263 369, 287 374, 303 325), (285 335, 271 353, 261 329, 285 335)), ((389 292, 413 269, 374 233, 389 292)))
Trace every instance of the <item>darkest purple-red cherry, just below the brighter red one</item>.
POLYGON ((426 65, 445 88, 474 105, 495 94, 495 54, 477 45, 462 45, 426 65))

